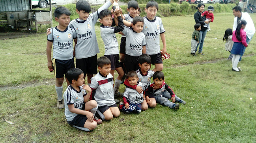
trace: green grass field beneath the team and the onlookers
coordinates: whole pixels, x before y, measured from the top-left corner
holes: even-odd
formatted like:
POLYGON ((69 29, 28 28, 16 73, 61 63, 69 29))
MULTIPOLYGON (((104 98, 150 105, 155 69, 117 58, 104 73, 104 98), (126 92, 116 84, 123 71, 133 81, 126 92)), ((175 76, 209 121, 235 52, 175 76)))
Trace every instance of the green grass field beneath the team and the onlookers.
MULTIPOLYGON (((250 16, 256 25, 256 14, 250 16)), ((222 40, 233 26, 232 13, 215 14, 205 38, 206 55, 197 57, 190 55, 193 16, 162 20, 171 54, 164 60, 165 81, 186 105, 172 110, 158 104, 140 114, 121 113, 91 132, 75 129, 67 124, 64 109, 56 107, 54 84, 39 84, 53 79, 46 34, 1 40, 0 142, 256 142, 256 38, 238 64, 243 71, 233 72, 222 40)), ((100 57, 104 45, 96 27, 100 57)))

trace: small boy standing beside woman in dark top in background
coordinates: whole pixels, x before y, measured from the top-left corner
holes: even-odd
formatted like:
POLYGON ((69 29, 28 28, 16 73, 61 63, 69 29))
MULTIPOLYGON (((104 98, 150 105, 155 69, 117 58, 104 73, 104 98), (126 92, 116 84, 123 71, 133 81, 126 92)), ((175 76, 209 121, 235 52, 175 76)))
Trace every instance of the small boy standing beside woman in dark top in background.
POLYGON ((199 43, 199 31, 201 30, 201 24, 197 23, 194 25, 194 32, 192 33, 192 39, 191 39, 191 52, 190 54, 192 56, 196 55, 196 45, 199 43))

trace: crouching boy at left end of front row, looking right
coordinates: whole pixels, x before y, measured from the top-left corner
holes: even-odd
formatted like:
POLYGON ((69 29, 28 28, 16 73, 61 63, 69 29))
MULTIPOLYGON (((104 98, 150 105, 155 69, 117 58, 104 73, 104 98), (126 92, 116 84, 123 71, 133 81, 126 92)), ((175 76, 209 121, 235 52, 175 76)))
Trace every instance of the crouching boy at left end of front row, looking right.
POLYGON ((83 71, 71 68, 67 71, 66 78, 70 83, 64 92, 67 123, 80 130, 95 129, 97 123, 100 124, 102 120, 94 118, 98 105, 95 100, 88 101, 92 90, 88 85, 84 85, 83 71))

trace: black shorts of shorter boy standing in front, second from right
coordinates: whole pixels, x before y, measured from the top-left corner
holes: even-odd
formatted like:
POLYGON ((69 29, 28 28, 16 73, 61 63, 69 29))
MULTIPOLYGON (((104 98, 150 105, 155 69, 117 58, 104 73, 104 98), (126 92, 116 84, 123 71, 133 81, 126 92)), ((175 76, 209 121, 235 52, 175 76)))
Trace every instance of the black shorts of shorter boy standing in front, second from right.
POLYGON ((138 64, 138 56, 130 56, 126 54, 123 61, 123 71, 126 74, 129 71, 137 71, 140 68, 138 64))

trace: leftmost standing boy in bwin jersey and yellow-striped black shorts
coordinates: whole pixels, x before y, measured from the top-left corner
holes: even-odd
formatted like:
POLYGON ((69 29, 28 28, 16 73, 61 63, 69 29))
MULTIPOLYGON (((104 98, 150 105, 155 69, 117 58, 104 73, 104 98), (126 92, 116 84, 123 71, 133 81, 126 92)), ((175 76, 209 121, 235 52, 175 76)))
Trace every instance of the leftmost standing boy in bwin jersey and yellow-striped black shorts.
MULTIPOLYGON (((54 16, 59 25, 50 29, 51 34, 47 36, 47 66, 50 71, 53 69, 54 78, 56 78, 55 90, 58 96, 58 109, 64 108, 62 98, 64 74, 66 74, 70 68, 75 67, 73 59, 73 39, 75 42, 77 41, 77 33, 75 29, 67 27, 70 22, 70 15, 71 13, 66 7, 56 8, 54 16)), ((66 81, 68 86, 70 83, 67 79, 66 81)))

